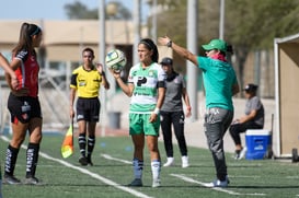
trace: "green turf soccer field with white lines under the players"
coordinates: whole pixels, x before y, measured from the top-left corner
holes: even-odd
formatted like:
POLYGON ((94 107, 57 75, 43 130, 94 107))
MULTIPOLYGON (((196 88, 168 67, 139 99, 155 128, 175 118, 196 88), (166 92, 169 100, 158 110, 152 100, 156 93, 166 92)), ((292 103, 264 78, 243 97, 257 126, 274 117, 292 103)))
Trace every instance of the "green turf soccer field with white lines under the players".
MULTIPOLYGON (((0 140, 1 168, 3 173, 7 140, 0 140)), ((240 160, 227 153, 230 185, 228 188, 206 188, 204 183, 215 178, 211 155, 208 150, 188 148, 191 166, 181 167, 179 149, 174 149, 176 165, 162 167, 161 187, 151 187, 150 161, 145 149, 143 187, 127 187, 133 179, 133 147, 129 137, 97 138, 93 154, 94 166, 80 166, 79 150, 74 139, 74 154, 62 159, 60 147, 64 137, 45 135, 36 177, 39 186, 3 185, 4 198, 194 198, 194 197, 299 197, 299 163, 276 160, 240 160)), ((25 143, 27 140, 25 141, 25 143)), ((162 161, 165 153, 162 143, 162 161)), ((25 149, 20 150, 15 176, 24 179, 25 149)))

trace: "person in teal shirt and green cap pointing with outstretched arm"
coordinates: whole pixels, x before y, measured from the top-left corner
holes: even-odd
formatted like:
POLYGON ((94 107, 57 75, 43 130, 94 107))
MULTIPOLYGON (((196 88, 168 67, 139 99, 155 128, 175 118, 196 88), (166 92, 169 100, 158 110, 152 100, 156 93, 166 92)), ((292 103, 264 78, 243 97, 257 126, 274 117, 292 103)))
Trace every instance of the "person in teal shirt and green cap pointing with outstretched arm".
POLYGON ((206 184, 207 187, 227 187, 229 184, 223 136, 233 118, 232 96, 239 93, 239 83, 232 66, 227 61, 227 43, 211 39, 203 45, 207 57, 196 56, 179 46, 170 37, 159 37, 159 43, 172 48, 181 57, 202 69, 206 91, 205 133, 217 178, 206 184))

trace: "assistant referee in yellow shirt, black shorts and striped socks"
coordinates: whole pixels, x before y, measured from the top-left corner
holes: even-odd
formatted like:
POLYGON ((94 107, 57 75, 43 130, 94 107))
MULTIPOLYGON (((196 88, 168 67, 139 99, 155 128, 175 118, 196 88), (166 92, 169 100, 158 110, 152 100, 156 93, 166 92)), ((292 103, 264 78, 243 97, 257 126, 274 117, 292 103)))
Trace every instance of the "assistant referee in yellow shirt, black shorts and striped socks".
POLYGON ((84 48, 82 51, 83 65, 73 70, 70 82, 70 118, 74 117, 74 97, 77 101, 77 121, 79 127, 78 143, 81 156, 79 163, 83 166, 93 165, 92 152, 95 145, 95 127, 100 120, 101 103, 99 92, 101 84, 108 90, 110 83, 106 80, 103 66, 93 63, 94 51, 84 48), (87 141, 88 136, 88 141, 87 141), (88 151, 87 151, 88 145, 88 151))

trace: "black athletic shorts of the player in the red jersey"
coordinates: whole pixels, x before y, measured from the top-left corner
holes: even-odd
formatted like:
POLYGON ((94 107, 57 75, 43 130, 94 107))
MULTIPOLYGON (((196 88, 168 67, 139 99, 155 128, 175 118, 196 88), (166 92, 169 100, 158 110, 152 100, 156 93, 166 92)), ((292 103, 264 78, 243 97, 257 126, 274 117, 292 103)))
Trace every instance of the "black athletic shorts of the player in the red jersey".
POLYGON ((11 114, 11 123, 27 124, 32 118, 43 118, 38 97, 9 95, 8 108, 11 114))

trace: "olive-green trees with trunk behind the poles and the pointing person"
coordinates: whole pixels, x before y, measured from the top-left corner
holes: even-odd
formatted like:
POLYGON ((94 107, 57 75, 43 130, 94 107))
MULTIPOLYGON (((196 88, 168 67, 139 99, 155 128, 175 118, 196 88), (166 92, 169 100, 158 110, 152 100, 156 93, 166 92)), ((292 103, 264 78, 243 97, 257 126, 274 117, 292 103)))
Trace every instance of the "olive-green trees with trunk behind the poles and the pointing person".
MULTIPOLYGON (((159 14, 159 35, 168 34, 177 44, 186 44, 186 0, 158 0, 165 8, 159 14), (175 2, 175 3, 174 3, 175 2)), ((199 0, 198 43, 219 37, 219 0, 199 0)), ((299 32, 298 0, 226 0, 225 39, 233 46, 238 78, 244 73, 248 56, 254 50, 272 50, 275 37, 299 32)), ((200 45, 198 46, 202 53, 200 45)))

